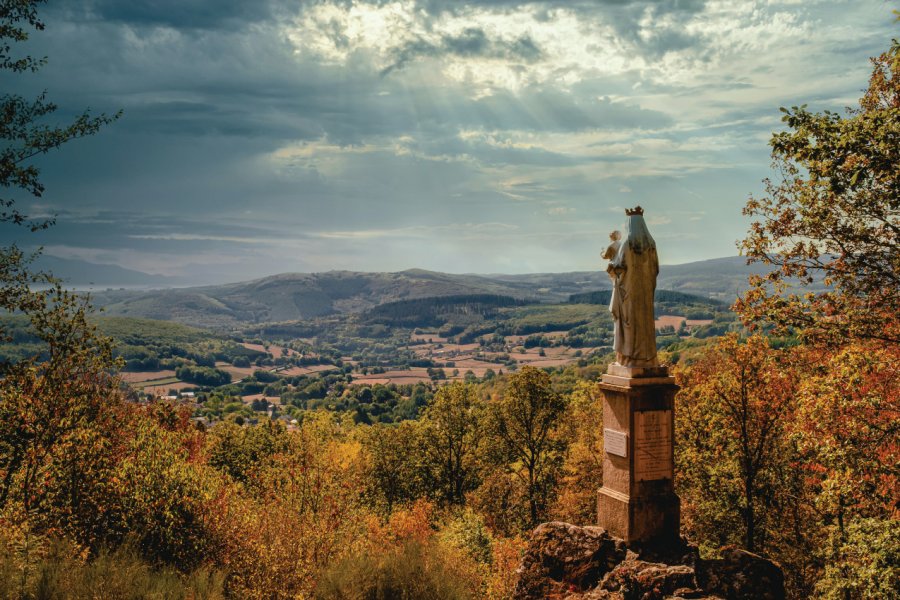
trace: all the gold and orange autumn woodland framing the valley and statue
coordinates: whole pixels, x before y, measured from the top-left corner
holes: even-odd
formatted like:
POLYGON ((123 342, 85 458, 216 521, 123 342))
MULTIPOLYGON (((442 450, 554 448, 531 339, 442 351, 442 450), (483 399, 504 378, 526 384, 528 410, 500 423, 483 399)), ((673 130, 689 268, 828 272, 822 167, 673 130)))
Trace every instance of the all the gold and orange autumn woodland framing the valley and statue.
MULTIPOLYGON (((2 2, 7 76, 42 65, 15 53, 37 4, 2 2)), ((43 192, 31 159, 116 115, 55 127, 44 96, 0 107, 0 220, 52 226, 17 204, 43 192)), ((790 598, 896 598, 900 43, 846 114, 782 110, 773 178, 744 209, 742 252, 770 272, 734 305, 739 331, 662 356, 682 533, 777 561, 790 598)), ((595 521, 608 358, 439 386, 399 423, 309 409, 291 431, 206 428, 131 401, 87 300, 15 246, 0 304, 40 346, 0 379, 2 597, 502 599, 536 525, 595 521)))

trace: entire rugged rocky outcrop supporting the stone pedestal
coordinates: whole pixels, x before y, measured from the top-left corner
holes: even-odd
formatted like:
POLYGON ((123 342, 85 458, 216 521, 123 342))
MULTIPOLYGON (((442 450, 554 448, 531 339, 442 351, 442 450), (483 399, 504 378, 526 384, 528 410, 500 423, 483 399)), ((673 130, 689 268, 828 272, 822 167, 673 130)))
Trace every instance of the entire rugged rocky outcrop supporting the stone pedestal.
POLYGON ((544 523, 517 570, 516 600, 783 600, 772 561, 736 548, 704 560, 695 546, 627 548, 600 527, 544 523))

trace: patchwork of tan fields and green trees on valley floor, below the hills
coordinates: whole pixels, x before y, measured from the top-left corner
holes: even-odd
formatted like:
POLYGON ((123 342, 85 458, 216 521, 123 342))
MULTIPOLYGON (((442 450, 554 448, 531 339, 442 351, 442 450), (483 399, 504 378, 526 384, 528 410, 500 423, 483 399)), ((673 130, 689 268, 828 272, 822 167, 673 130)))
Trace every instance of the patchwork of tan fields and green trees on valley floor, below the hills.
MULTIPOLYGON (((724 305, 667 294, 656 320, 664 330, 661 347, 732 326, 724 305)), ((253 422, 269 404, 287 422, 301 419, 302 411, 323 409, 351 411, 365 422, 416 418, 447 382, 487 379, 524 366, 587 368, 608 360, 613 343, 606 303, 523 304, 471 295, 260 324, 229 335, 125 318, 106 325, 127 340, 123 381, 144 396, 193 391, 195 416, 207 424, 226 418, 253 422), (154 337, 154 331, 163 335, 154 337)), ((689 355, 692 344, 682 352, 689 355)))

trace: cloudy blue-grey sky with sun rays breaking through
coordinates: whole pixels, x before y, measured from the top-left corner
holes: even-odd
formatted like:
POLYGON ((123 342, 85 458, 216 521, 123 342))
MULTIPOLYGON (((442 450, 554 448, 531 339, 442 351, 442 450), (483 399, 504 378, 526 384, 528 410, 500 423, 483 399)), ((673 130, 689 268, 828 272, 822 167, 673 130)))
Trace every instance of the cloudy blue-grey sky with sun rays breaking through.
POLYGON ((332 269, 604 268, 641 205, 663 263, 737 254, 779 107, 856 103, 883 0, 49 0, 2 89, 64 123, 56 215, 0 241, 194 283, 332 269))

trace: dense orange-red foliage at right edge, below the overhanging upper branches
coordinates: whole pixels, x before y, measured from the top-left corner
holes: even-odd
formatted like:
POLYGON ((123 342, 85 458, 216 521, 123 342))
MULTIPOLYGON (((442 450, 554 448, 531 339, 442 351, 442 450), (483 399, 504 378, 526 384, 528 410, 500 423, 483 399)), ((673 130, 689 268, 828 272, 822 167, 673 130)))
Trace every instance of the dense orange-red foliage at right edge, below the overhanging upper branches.
POLYGON ((814 374, 799 384, 792 430, 822 538, 822 597, 900 594, 898 361, 896 345, 871 340, 805 350, 814 374))

